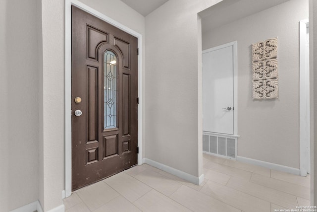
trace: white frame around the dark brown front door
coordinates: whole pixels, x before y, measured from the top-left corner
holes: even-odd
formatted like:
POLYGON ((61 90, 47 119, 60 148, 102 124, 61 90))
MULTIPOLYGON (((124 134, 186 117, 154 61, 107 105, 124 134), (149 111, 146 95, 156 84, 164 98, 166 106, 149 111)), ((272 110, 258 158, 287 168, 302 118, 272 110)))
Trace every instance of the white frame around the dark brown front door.
POLYGON ((74 5, 107 23, 129 33, 138 38, 138 164, 142 162, 142 35, 123 24, 113 20, 105 14, 87 6, 78 0, 65 0, 65 190, 62 193, 63 198, 71 195, 71 6, 74 5))

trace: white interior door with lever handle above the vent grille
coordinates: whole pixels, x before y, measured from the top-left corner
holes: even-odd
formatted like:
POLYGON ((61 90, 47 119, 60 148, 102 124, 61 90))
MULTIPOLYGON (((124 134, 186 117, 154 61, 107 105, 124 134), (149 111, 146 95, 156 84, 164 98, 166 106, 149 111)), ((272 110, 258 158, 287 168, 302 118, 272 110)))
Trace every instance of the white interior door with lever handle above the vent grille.
POLYGON ((233 135, 233 46, 203 52, 203 131, 233 135))

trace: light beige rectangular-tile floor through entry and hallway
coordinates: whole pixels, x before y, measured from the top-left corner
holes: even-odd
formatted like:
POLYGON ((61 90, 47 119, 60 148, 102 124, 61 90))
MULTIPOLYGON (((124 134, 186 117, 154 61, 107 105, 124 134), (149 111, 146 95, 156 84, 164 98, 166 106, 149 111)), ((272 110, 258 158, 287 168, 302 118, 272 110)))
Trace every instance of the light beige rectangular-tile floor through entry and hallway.
POLYGON ((82 188, 66 212, 274 212, 310 205, 310 176, 301 177, 204 154, 198 186, 148 164, 82 188))

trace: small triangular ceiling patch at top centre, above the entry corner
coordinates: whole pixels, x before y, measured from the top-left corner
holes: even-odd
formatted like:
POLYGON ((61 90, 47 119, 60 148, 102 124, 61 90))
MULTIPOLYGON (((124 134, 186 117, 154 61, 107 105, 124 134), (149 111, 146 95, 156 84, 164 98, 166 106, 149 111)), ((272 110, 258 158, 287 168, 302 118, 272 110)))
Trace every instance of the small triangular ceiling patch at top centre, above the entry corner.
POLYGON ((147 16, 168 0, 121 0, 143 16, 147 16))

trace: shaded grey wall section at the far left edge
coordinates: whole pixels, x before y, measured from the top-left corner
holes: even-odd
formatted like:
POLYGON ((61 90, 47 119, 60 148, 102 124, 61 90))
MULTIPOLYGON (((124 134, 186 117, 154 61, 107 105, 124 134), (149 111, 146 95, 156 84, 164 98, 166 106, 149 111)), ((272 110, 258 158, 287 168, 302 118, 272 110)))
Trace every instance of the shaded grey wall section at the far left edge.
POLYGON ((37 1, 0 0, 0 211, 38 199, 37 1))

